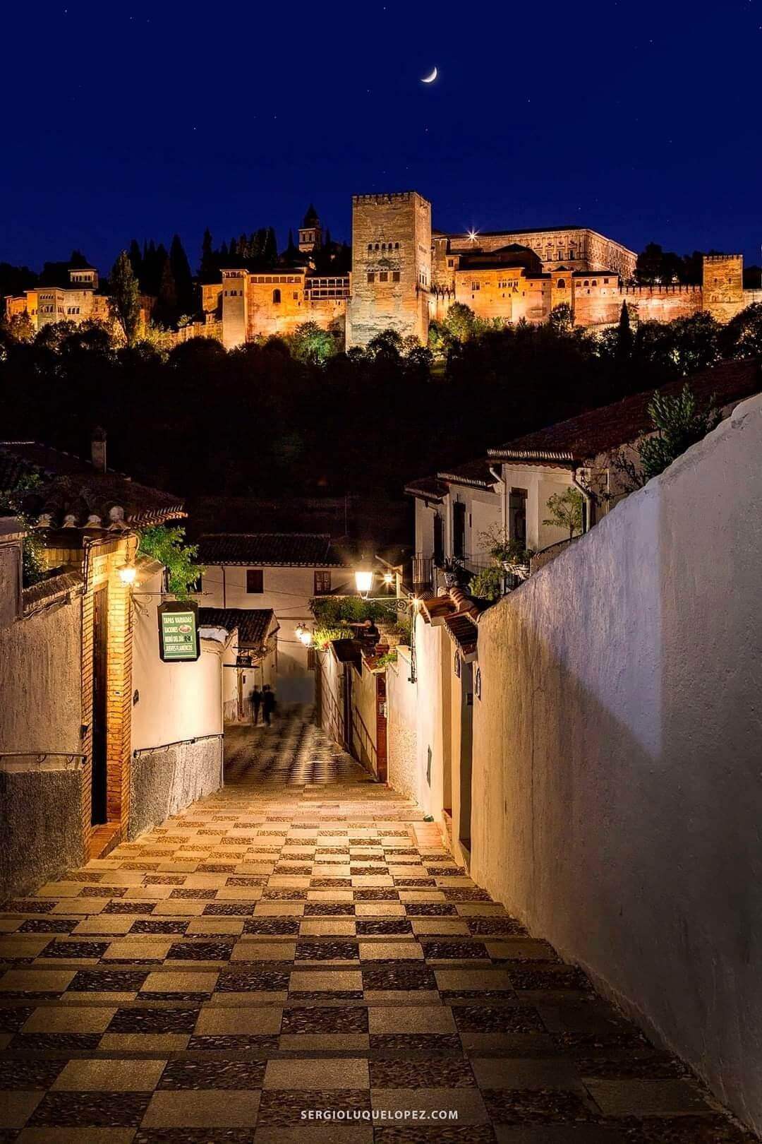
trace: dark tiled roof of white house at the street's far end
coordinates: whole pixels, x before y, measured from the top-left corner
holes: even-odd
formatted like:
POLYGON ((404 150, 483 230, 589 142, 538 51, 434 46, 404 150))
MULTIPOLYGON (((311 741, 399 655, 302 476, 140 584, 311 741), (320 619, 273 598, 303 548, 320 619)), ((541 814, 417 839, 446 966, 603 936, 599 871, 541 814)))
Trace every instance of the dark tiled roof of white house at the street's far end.
POLYGON ((199 563, 344 566, 324 532, 208 532, 199 538, 199 563))

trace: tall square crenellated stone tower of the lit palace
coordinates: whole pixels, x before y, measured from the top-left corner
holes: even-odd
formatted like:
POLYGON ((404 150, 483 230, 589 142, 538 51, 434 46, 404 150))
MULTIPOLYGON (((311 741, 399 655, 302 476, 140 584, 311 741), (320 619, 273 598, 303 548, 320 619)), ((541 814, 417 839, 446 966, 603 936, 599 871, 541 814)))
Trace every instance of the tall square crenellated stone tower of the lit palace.
POLYGON ((431 235, 431 202, 416 191, 352 197, 347 348, 390 327, 426 344, 431 235))

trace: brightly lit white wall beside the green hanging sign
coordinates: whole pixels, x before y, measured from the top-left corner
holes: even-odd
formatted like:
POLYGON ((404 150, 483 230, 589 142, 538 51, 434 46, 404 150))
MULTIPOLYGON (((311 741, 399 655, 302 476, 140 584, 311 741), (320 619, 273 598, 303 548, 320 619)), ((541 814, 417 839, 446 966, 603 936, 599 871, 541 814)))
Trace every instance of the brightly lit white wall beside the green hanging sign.
POLYGON ((161 573, 138 591, 133 618, 133 689, 139 699, 133 706, 133 750, 222 732, 222 644, 202 639, 194 664, 163 664, 157 617, 161 573))

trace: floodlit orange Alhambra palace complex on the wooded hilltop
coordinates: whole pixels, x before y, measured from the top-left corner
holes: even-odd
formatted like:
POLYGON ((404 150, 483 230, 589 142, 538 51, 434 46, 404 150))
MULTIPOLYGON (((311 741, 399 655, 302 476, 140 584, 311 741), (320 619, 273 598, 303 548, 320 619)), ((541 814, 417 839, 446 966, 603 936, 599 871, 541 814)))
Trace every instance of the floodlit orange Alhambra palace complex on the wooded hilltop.
MULTIPOLYGON (((288 335, 314 321, 346 349, 366 345, 393 328, 424 344, 428 325, 454 303, 479 318, 504 323, 546 321, 566 303, 573 324, 603 328, 621 303, 640 320, 672 321, 707 311, 727 321, 762 289, 744 289, 740 254, 705 255, 700 285, 634 285, 636 254, 586 227, 482 233, 432 230, 432 206, 416 191, 352 198, 352 270, 315 271, 326 232, 314 208, 298 231, 298 249, 276 269, 222 270, 200 287, 200 315, 167 344, 192 336, 217 337, 227 349, 272 335, 288 335)), ((323 265, 324 265, 324 260, 323 265)), ((72 268, 61 287, 40 287, 7 300, 7 317, 27 313, 34 326, 61 320, 107 319, 93 268, 72 268)), ((150 317, 153 300, 143 299, 150 317)))

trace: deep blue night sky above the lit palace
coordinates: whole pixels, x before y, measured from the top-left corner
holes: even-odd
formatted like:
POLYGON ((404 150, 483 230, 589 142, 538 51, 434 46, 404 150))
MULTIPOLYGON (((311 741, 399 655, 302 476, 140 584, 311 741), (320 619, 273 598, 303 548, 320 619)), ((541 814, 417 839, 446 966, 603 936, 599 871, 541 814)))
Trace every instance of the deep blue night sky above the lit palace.
POLYGON ((434 227, 583 224, 760 261, 762 0, 13 3, 0 261, 215 243, 415 189, 434 227), (436 65, 438 80, 420 78, 436 65))

